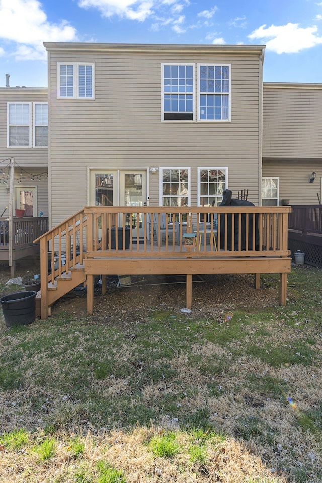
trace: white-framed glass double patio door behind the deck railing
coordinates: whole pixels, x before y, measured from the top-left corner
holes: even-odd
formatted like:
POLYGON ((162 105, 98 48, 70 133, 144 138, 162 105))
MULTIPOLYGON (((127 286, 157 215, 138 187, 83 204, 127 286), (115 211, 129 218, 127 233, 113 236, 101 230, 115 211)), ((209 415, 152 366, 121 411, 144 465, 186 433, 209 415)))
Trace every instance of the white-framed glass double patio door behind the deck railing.
MULTIPOLYGON (((89 204, 95 206, 144 206, 147 201, 146 170, 92 170, 90 169, 89 204)), ((118 226, 122 226, 119 217, 118 226)), ((126 225, 132 224, 133 238, 144 236, 142 217, 127 216, 126 225)))

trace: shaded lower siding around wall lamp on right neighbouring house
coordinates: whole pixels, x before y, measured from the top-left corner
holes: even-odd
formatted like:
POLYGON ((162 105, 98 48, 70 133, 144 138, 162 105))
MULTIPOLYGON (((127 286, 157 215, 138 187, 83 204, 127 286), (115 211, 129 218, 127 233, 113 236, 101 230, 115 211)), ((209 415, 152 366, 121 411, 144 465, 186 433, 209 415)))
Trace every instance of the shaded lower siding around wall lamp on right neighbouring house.
POLYGON ((321 162, 293 160, 264 161, 263 176, 280 178, 280 200, 289 199, 291 205, 318 204, 316 193, 321 199, 321 162), (314 183, 309 183, 312 171, 315 171, 314 183))

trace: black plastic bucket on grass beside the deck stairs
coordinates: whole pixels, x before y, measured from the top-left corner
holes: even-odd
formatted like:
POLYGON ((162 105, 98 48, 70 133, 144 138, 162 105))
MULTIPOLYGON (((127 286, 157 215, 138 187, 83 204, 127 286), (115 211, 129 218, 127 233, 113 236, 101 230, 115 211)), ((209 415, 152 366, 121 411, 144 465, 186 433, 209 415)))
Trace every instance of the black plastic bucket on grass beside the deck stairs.
POLYGON ((36 320, 36 295, 34 290, 26 290, 0 298, 6 327, 24 326, 36 320))

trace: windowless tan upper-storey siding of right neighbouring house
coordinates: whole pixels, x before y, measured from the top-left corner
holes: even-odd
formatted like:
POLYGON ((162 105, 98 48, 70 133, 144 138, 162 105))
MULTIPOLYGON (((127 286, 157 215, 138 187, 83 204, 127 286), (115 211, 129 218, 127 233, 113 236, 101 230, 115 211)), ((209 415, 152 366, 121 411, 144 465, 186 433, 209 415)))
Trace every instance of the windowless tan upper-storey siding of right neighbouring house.
POLYGON ((322 84, 264 83, 263 158, 322 158, 322 84))

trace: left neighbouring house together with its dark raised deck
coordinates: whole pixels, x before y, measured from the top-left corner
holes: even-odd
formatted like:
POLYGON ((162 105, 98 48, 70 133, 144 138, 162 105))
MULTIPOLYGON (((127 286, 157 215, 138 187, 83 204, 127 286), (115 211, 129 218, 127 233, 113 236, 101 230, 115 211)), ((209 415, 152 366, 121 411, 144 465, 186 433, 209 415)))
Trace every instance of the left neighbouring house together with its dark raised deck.
POLYGON ((48 90, 10 87, 9 77, 0 88, 0 261, 14 276, 16 260, 39 253, 33 240, 48 229, 48 90), (13 215, 18 209, 26 217, 12 227, 10 195, 13 215))

